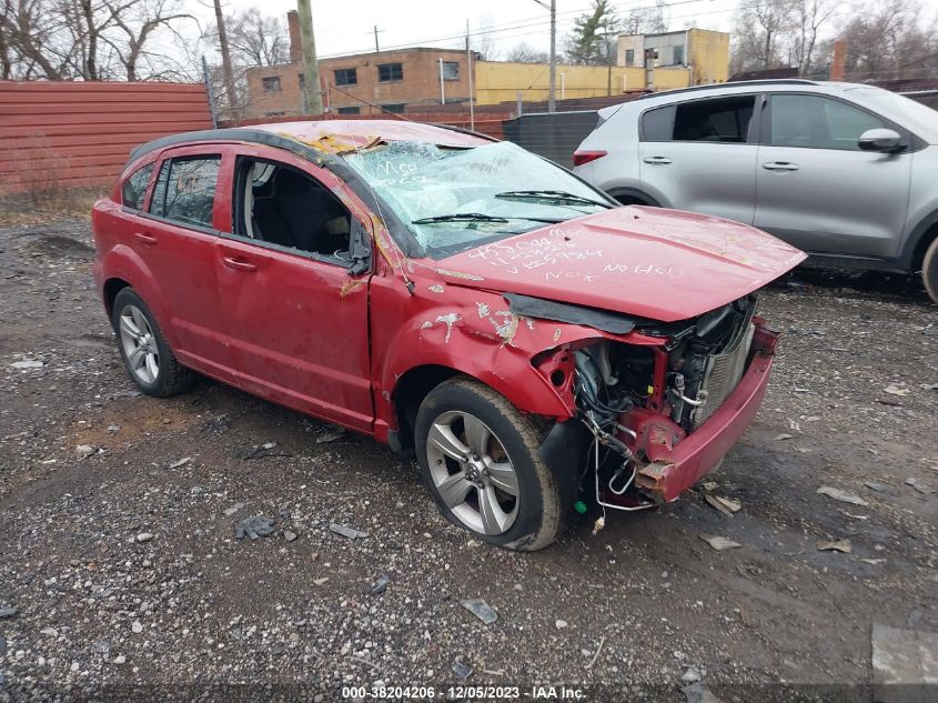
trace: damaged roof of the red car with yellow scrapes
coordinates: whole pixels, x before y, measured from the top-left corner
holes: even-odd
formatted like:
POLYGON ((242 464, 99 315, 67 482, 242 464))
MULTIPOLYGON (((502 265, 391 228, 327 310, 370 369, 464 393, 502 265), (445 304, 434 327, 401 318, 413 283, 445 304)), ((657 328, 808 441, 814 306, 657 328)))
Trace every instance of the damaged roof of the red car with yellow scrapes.
POLYGON ((456 127, 410 120, 311 120, 171 134, 140 144, 131 151, 129 162, 158 149, 218 141, 263 143, 273 147, 288 147, 291 142, 299 142, 323 154, 339 155, 382 141, 480 147, 496 140, 456 127))

